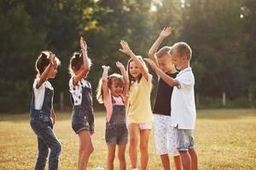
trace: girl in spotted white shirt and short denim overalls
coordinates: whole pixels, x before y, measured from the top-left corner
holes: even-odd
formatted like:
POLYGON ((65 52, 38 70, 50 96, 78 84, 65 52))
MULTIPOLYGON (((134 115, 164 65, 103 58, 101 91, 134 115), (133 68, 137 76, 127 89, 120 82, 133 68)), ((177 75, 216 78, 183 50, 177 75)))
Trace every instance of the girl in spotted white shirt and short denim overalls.
POLYGON ((72 128, 79 135, 78 169, 87 167, 93 144, 90 135, 94 133, 94 116, 92 109, 90 82, 84 80, 90 71, 90 59, 87 56, 87 44, 80 38, 81 53, 74 53, 70 59, 69 91, 71 94, 72 128))

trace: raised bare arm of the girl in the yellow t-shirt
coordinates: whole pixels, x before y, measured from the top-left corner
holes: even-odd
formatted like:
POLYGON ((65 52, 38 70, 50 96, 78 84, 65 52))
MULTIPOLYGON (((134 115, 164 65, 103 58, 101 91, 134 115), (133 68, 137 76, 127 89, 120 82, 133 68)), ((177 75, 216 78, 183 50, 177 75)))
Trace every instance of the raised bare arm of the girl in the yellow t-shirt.
POLYGON ((145 65, 143 65, 143 62, 138 59, 137 56, 131 51, 127 42, 121 40, 120 44, 122 46, 122 49, 119 49, 119 51, 124 54, 128 54, 131 57, 131 59, 136 63, 140 71, 142 71, 143 77, 145 77, 145 79, 148 81, 148 71, 145 68, 145 65))

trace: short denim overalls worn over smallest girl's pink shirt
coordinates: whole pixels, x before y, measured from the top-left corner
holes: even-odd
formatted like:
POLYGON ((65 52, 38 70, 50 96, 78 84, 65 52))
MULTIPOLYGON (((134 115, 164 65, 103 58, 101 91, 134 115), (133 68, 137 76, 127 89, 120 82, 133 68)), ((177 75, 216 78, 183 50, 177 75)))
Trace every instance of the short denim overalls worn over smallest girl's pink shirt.
POLYGON ((127 144, 128 129, 126 126, 125 101, 119 96, 124 105, 115 105, 115 100, 111 96, 113 111, 109 122, 106 122, 105 140, 107 144, 127 144))

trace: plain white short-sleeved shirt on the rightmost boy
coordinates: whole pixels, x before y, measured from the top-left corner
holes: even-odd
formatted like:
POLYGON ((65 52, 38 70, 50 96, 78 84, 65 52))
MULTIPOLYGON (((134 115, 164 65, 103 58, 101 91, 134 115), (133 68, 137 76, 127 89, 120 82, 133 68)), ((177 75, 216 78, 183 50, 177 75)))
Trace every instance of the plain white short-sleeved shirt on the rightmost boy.
POLYGON ((172 126, 179 129, 195 128, 195 77, 191 67, 180 71, 175 78, 179 85, 172 92, 172 126))

